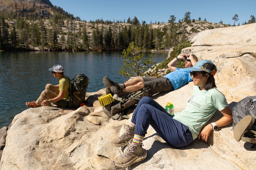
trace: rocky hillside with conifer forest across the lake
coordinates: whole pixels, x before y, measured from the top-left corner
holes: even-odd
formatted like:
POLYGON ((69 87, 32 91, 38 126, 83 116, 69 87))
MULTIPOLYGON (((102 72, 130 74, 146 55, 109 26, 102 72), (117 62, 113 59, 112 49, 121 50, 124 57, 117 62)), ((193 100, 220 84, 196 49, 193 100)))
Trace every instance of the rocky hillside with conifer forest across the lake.
POLYGON ((200 31, 230 26, 191 20, 190 13, 178 22, 170 16, 168 23, 140 23, 136 17, 87 22, 48 0, 2 0, 0 9, 1 50, 122 50, 130 42, 145 50, 166 50, 200 31))

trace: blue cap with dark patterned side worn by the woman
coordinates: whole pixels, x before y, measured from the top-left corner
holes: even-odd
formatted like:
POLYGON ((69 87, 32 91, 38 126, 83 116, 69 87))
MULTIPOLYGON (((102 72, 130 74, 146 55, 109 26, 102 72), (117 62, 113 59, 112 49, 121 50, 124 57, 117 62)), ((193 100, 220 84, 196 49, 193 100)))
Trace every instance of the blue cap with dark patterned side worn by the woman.
POLYGON ((186 69, 191 71, 206 71, 212 75, 215 75, 217 72, 216 65, 214 65, 213 62, 209 60, 197 61, 193 67, 187 67, 186 69))

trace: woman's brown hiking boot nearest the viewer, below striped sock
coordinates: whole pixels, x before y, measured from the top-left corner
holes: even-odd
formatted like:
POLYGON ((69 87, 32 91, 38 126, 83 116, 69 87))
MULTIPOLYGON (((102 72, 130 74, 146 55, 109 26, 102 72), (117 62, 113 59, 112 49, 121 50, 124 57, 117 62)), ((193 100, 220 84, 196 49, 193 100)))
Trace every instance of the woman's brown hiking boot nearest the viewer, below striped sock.
POLYGON ((142 148, 142 145, 142 143, 133 144, 128 142, 123 154, 114 160, 115 165, 119 167, 127 167, 131 164, 144 160, 147 157, 147 151, 142 148))

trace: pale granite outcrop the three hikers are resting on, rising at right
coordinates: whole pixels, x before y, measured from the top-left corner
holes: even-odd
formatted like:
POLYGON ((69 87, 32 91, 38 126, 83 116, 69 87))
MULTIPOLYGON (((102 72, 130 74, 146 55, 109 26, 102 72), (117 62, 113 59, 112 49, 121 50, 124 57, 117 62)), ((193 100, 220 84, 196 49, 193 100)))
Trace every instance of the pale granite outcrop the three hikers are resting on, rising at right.
MULTIPOLYGON (((256 24, 206 30, 197 34, 183 53, 213 61, 218 89, 230 107, 246 96, 256 96, 256 24)), ((174 104, 174 112, 185 108, 193 83, 169 93, 151 96, 162 106, 174 104)), ((123 133, 129 120, 114 121, 102 112, 98 97, 104 89, 88 93, 88 104, 68 108, 30 108, 16 115, 8 127, 0 169, 122 169, 113 160, 121 148, 111 140, 123 133)), ((211 122, 218 120, 217 111, 211 122)), ((211 132, 207 142, 195 139, 186 147, 166 144, 152 127, 143 140, 147 158, 126 169, 256 169, 255 146, 234 139, 232 124, 211 132)))

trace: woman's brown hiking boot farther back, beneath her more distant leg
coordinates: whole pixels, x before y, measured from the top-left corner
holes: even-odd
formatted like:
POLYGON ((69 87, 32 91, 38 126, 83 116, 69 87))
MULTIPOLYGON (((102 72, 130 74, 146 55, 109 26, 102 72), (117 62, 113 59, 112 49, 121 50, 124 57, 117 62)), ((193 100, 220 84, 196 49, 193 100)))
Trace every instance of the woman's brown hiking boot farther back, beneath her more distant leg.
POLYGON ((129 142, 129 140, 133 139, 134 136, 134 127, 130 127, 130 125, 124 126, 125 132, 119 136, 117 139, 112 140, 113 146, 117 147, 123 147, 126 142, 129 142))

